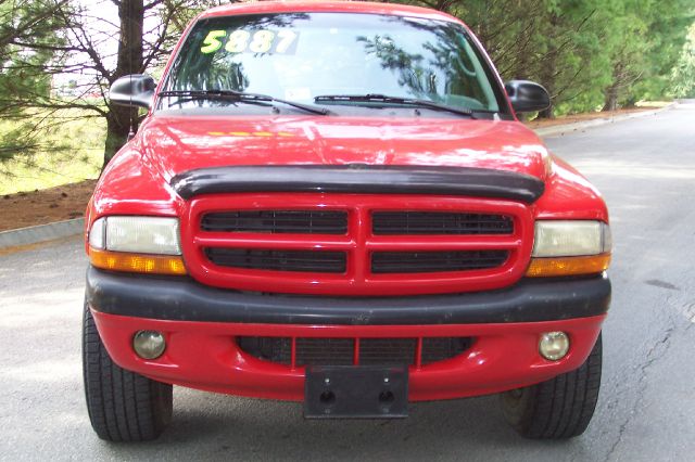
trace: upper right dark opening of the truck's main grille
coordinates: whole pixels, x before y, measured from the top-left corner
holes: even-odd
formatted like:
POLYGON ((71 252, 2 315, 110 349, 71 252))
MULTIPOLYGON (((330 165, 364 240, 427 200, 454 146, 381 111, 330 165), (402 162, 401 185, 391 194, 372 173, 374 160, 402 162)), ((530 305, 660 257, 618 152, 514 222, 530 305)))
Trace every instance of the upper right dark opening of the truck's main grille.
POLYGON ((511 234, 510 217, 493 214, 439 211, 374 211, 372 232, 395 234, 511 234))

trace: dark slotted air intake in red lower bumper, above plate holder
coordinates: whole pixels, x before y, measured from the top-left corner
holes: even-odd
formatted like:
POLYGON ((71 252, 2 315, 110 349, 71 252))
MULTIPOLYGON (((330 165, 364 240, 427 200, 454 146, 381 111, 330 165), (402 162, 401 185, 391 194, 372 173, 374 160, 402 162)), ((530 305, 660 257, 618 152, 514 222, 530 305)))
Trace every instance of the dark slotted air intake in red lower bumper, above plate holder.
MULTIPOLYGON (((421 364, 455 358, 472 345, 471 337, 422 338, 421 364)), ((237 337, 239 347, 258 359, 287 365, 292 363, 289 337, 237 337)), ((296 365, 351 365, 355 338, 296 338, 296 365)), ((361 365, 413 365, 417 338, 359 338, 361 365)))

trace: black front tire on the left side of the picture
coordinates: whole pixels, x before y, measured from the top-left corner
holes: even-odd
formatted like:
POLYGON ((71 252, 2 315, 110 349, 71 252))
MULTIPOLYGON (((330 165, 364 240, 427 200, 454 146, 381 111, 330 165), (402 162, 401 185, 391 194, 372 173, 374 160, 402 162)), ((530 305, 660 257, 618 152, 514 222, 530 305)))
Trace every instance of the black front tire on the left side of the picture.
POLYGON ((116 365, 85 304, 83 375, 91 426, 109 441, 154 439, 172 420, 173 386, 116 365))

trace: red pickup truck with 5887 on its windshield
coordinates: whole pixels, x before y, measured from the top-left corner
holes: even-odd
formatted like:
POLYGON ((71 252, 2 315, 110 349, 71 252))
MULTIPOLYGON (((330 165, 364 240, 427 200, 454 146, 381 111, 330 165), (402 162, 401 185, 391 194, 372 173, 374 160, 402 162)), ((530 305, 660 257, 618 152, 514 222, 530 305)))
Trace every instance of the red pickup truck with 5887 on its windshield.
POLYGON ((523 436, 580 435, 610 301, 606 205, 516 117, 450 15, 364 2, 206 11, 86 219, 89 418, 156 438, 172 387, 403 418, 501 394, 523 436))

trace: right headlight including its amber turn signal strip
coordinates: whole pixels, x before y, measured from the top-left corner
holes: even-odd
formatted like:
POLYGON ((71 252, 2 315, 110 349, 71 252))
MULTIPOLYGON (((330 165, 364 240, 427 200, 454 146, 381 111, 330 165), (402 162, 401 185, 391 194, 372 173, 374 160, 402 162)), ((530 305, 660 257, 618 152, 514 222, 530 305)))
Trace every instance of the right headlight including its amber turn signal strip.
POLYGON ((612 240, 603 221, 539 220, 527 277, 595 274, 610 264, 612 240))

